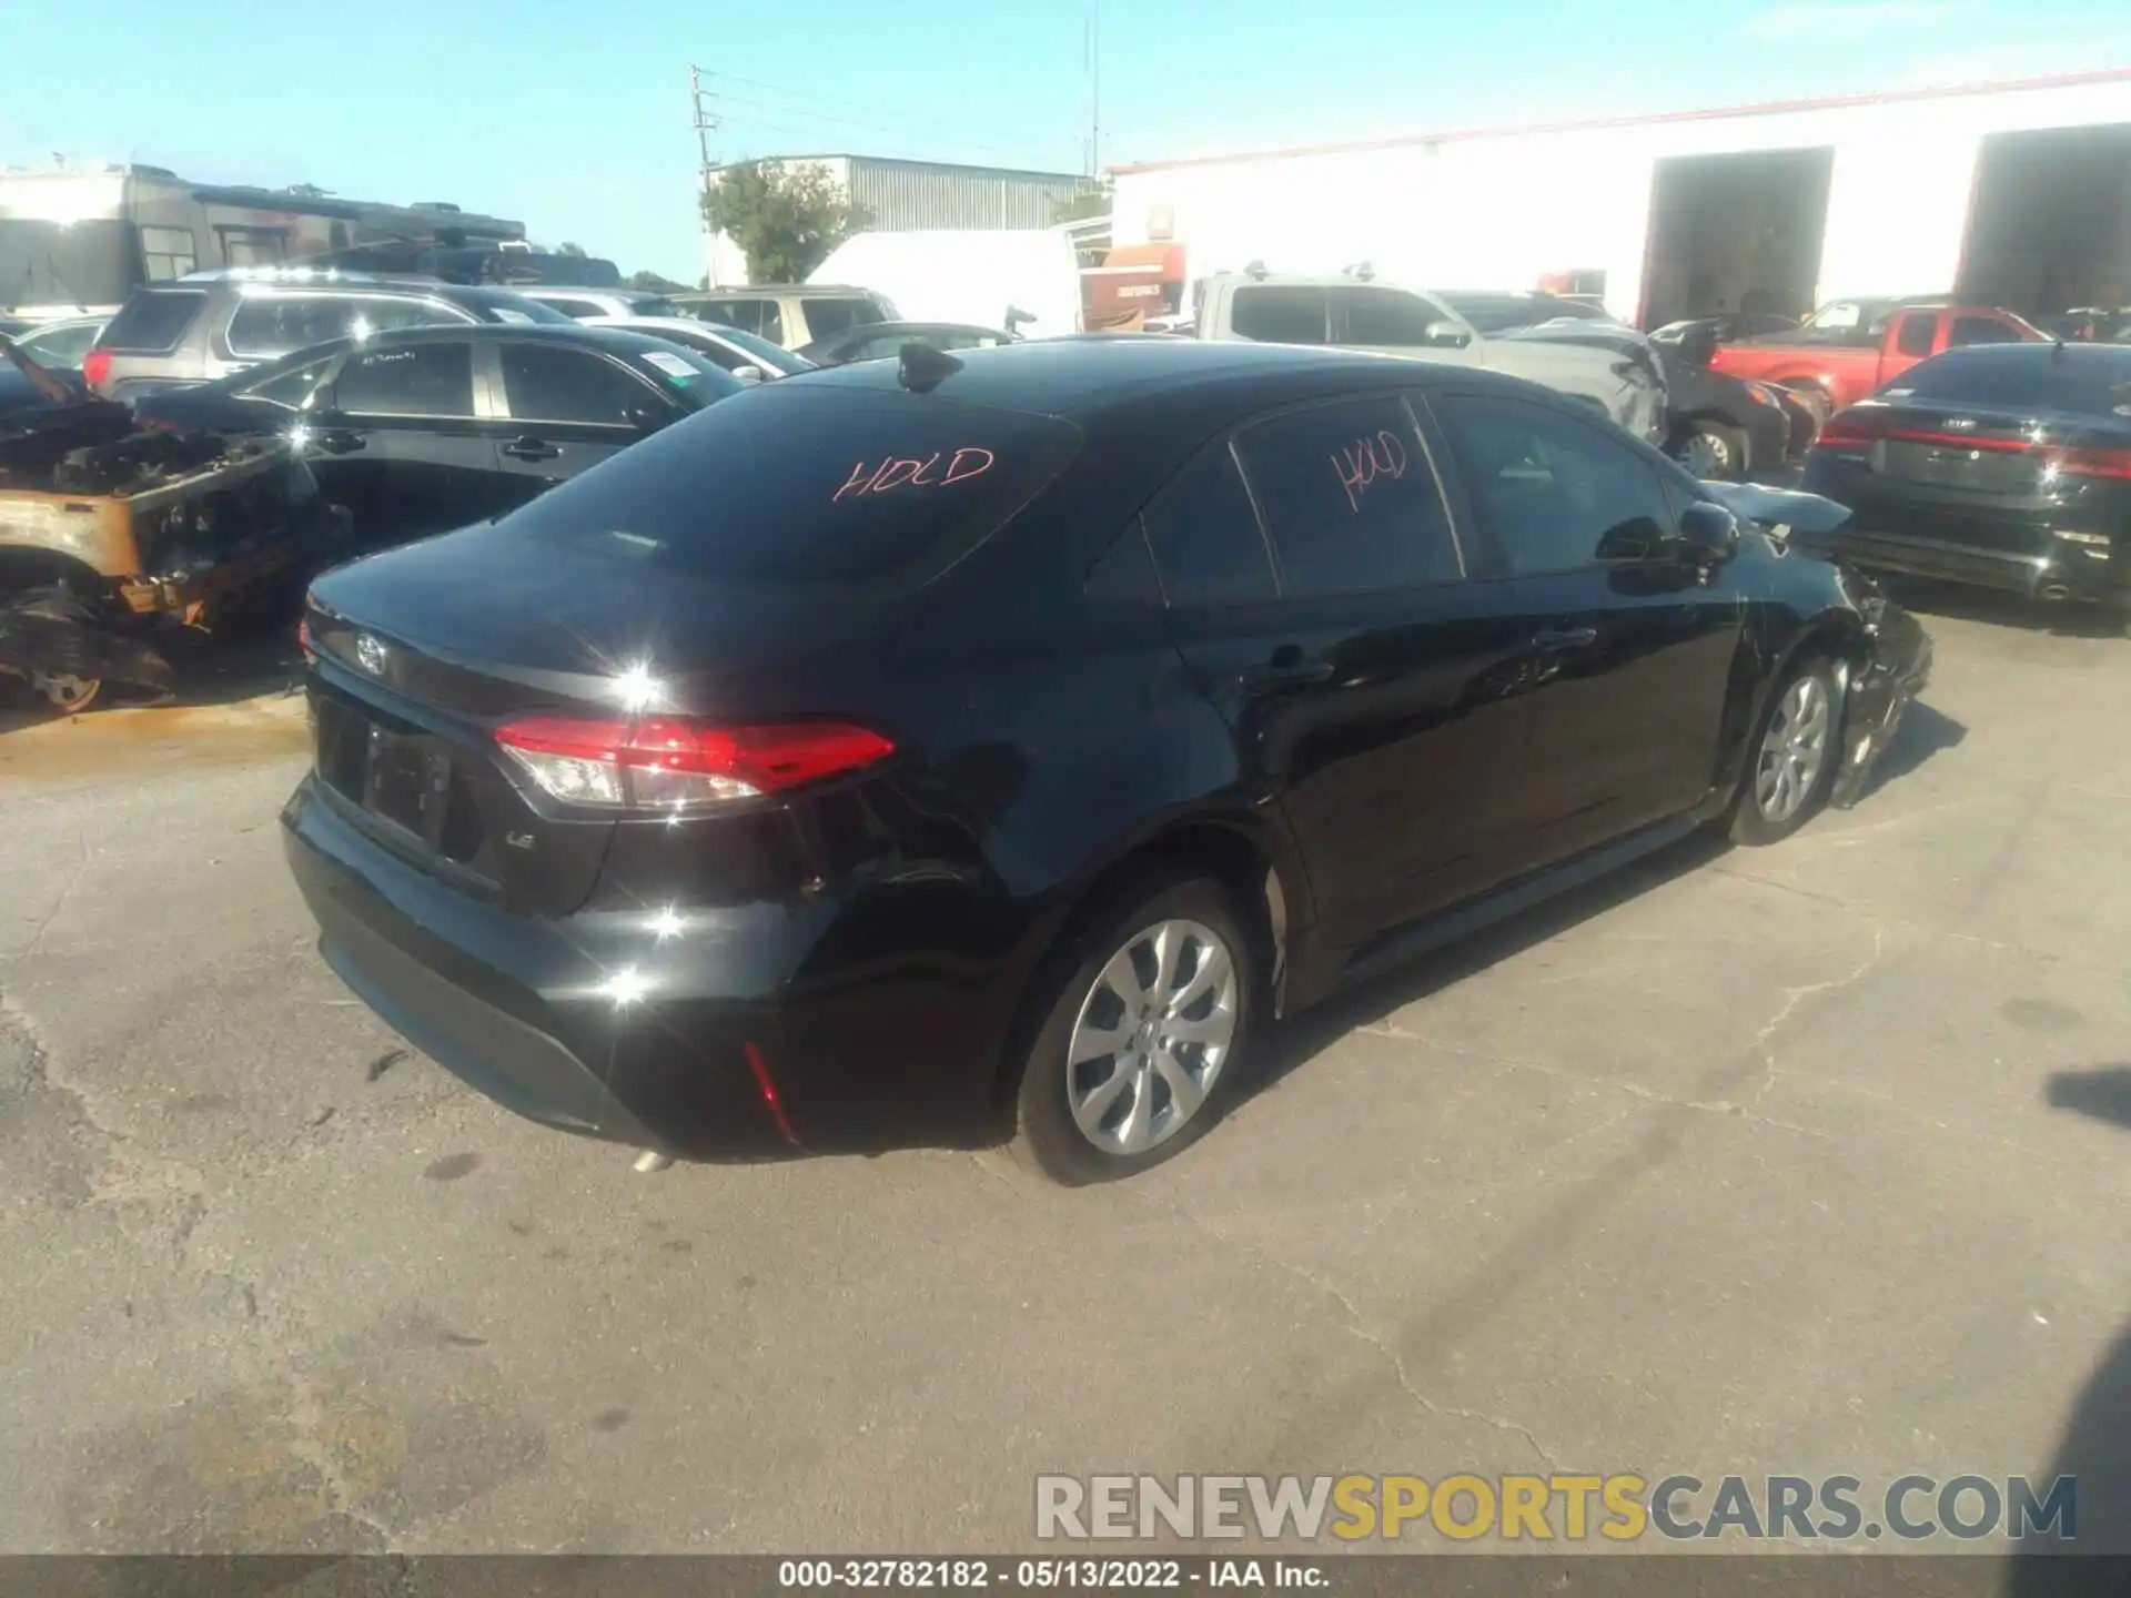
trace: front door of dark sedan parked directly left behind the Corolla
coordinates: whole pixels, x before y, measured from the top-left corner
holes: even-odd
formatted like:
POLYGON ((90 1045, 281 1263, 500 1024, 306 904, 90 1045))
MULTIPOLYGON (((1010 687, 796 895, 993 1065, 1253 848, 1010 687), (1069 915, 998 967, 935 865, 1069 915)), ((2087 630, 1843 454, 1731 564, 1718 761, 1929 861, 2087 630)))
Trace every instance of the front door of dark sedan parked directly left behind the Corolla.
POLYGON ((497 358, 497 462, 522 505, 680 415, 620 360, 567 343, 490 345, 497 358))

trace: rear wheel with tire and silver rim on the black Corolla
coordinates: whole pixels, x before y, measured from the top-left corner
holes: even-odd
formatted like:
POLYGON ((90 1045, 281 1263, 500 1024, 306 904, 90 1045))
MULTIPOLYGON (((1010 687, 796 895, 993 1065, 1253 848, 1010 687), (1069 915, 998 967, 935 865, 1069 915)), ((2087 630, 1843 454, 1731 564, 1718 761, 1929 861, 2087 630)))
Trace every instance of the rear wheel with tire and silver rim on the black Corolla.
POLYGON ((1170 1159, 1217 1116, 1257 1016, 1257 959, 1206 878, 1142 888, 1057 982, 1016 1095, 1014 1153, 1068 1187, 1170 1159))

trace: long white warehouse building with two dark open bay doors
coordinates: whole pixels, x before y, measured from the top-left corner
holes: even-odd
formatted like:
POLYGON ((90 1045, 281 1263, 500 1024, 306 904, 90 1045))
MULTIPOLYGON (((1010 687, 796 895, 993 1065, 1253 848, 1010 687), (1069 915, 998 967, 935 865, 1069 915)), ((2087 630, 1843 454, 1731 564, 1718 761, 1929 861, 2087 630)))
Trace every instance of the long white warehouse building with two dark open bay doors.
POLYGON ((1189 277, 1368 262, 1660 326, 1850 296, 2131 305, 2131 68, 1112 168, 1189 277))

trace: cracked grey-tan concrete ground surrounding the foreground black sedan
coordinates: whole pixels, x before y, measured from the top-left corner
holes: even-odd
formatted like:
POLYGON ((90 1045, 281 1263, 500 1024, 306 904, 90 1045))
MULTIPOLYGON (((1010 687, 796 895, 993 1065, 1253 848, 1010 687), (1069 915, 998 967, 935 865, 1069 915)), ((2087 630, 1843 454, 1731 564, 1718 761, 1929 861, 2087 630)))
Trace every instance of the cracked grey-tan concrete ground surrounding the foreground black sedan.
POLYGON ((2131 641, 1931 624, 1858 810, 1296 1023, 1087 1193, 633 1176, 320 965, 286 705, 11 731, 0 1549, 974 1551, 1051 1470, 2120 1489, 2131 641))

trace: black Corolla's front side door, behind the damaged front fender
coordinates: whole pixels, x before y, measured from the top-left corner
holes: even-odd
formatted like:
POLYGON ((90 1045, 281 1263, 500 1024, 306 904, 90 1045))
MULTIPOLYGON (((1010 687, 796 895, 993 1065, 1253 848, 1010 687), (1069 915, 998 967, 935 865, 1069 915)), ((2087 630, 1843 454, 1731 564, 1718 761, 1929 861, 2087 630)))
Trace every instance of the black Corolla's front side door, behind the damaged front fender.
POLYGON ((1434 390, 1483 586, 1534 650, 1530 718, 1502 797, 1524 869, 1541 869, 1696 805, 1743 607, 1724 567, 1683 569, 1664 475, 1566 405, 1434 390))

